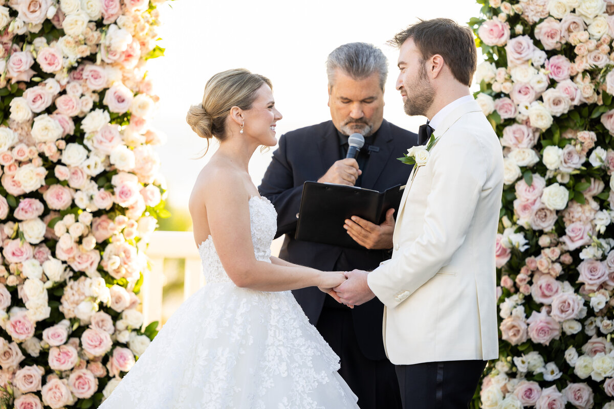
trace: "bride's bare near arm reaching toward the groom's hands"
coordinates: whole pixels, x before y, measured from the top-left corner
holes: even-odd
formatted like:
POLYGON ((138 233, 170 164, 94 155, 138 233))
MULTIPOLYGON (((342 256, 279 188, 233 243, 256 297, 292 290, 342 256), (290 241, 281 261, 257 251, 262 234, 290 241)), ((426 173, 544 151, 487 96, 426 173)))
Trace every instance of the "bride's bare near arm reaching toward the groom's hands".
POLYGON ((204 205, 213 243, 228 277, 239 287, 286 291, 309 286, 333 288, 345 280, 341 273, 320 272, 290 263, 258 261, 249 219, 250 194, 238 175, 223 170, 203 186, 204 205))

